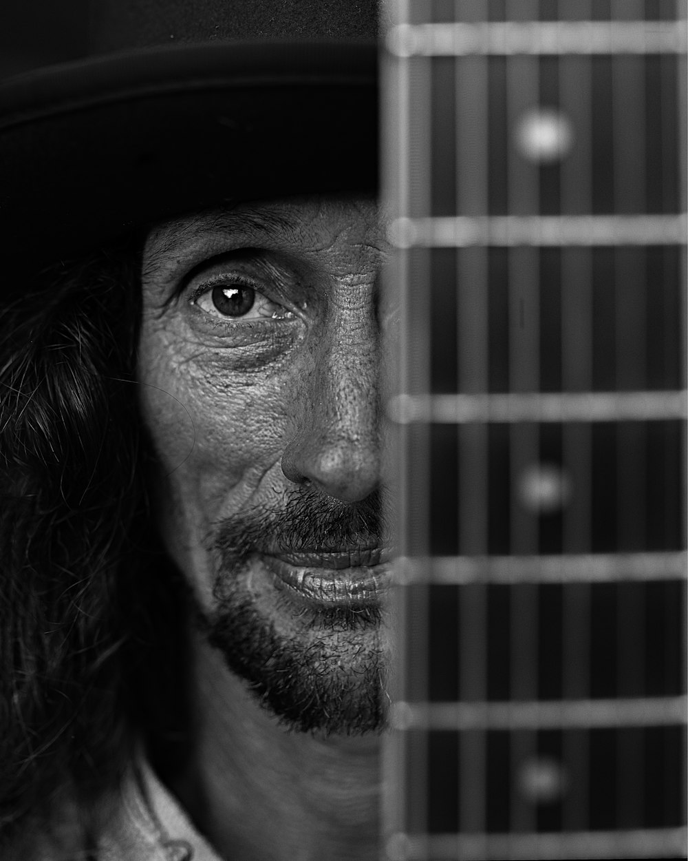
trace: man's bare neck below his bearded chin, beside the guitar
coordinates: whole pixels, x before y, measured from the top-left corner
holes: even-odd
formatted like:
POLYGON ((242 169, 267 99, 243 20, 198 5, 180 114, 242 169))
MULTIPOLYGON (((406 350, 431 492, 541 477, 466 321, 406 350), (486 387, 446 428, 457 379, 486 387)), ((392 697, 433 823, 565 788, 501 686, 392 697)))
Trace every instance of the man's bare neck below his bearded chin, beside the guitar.
POLYGON ((194 642, 194 748, 173 789, 231 861, 378 858, 378 736, 295 733, 194 642))

